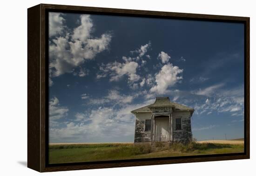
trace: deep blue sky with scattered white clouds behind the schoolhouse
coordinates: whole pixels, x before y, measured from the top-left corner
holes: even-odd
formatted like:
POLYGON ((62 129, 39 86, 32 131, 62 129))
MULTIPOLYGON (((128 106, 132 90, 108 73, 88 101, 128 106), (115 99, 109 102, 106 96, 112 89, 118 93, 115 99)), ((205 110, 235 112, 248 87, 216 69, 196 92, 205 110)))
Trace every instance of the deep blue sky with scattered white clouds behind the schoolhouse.
POLYGON ((133 142, 155 97, 197 140, 243 137, 243 24, 49 13, 49 141, 133 142))

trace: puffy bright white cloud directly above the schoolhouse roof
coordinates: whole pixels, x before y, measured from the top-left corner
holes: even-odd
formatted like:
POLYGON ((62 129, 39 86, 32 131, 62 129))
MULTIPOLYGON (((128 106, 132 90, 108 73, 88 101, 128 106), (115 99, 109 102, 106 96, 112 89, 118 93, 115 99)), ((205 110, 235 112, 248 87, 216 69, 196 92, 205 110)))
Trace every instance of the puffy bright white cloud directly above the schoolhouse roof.
POLYGON ((182 76, 178 76, 183 70, 178 66, 173 66, 168 63, 164 65, 159 73, 155 75, 156 85, 153 86, 150 91, 158 94, 166 93, 169 86, 175 85, 182 76))

